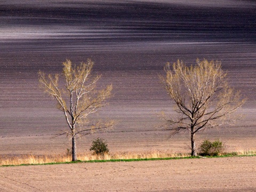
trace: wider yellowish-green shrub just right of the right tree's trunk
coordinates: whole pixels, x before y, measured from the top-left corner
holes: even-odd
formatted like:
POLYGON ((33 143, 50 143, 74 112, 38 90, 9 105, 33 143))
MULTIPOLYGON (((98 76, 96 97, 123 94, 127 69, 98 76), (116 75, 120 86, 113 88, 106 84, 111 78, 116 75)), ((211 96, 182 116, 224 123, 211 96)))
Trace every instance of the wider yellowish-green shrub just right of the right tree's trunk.
POLYGON ((199 147, 199 154, 202 156, 216 156, 223 154, 224 149, 225 146, 220 140, 213 142, 209 140, 204 140, 199 147))

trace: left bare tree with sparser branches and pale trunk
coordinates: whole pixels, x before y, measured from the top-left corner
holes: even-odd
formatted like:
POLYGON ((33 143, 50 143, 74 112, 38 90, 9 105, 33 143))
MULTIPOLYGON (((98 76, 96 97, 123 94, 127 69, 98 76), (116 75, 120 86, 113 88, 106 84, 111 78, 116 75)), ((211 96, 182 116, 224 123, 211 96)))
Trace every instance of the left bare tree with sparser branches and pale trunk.
POLYGON ((71 136, 72 161, 77 161, 76 138, 78 135, 90 134, 92 131, 105 130, 113 126, 111 121, 95 124, 89 120, 89 115, 107 105, 106 99, 110 97, 112 90, 112 85, 108 85, 103 90, 95 89, 100 76, 91 75, 93 64, 93 61, 88 59, 87 62, 73 67, 71 61, 66 60, 63 62, 62 75, 45 76, 42 71, 38 72, 40 85, 46 93, 57 100, 57 108, 65 115, 69 131, 63 130, 62 134, 71 136), (63 86, 58 84, 59 77, 64 80, 63 86))

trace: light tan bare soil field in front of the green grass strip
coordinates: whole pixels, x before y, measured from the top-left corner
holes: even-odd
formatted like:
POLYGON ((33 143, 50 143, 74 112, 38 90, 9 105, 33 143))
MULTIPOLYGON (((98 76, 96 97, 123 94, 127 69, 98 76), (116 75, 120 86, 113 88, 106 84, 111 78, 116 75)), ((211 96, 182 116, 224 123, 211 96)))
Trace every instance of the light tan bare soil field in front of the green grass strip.
POLYGON ((255 191, 256 157, 0 167, 0 191, 255 191))

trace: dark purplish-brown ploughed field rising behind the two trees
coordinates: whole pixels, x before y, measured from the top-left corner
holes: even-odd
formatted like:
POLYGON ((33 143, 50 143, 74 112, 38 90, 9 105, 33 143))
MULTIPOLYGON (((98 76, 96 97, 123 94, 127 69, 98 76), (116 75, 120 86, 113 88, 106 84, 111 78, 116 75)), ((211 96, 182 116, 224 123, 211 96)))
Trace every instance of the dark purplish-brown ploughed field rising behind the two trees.
POLYGON ((92 118, 115 119, 113 131, 87 135, 78 153, 97 137, 110 151, 189 151, 188 134, 168 139, 156 130, 161 111, 173 115, 172 101, 159 81, 167 61, 220 60, 229 82, 247 98, 235 126, 196 135, 221 139, 229 151, 255 149, 256 43, 251 1, 4 1, 0 28, 1 155, 61 154, 70 148, 67 129, 55 101, 38 87, 38 70, 60 73, 66 58, 95 61, 98 86, 113 84, 109 106, 92 118))

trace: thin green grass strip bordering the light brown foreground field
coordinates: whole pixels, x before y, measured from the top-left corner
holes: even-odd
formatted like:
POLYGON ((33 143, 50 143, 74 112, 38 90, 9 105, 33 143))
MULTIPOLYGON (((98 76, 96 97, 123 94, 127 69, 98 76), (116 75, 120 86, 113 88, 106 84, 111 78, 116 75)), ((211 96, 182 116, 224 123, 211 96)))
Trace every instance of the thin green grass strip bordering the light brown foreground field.
POLYGON ((138 159, 109 159, 109 160, 91 160, 91 161, 75 161, 75 162, 58 162, 58 163, 43 163, 43 164, 20 164, 20 165, 2 165, 9 166, 28 166, 28 165, 58 165, 58 164, 73 164, 73 163, 106 163, 106 162, 139 162, 139 161, 163 161, 174 159, 194 159, 194 158, 223 158, 223 157, 252 157, 254 155, 235 155, 234 153, 220 156, 189 156, 189 157, 166 157, 166 158, 138 158, 138 159))

